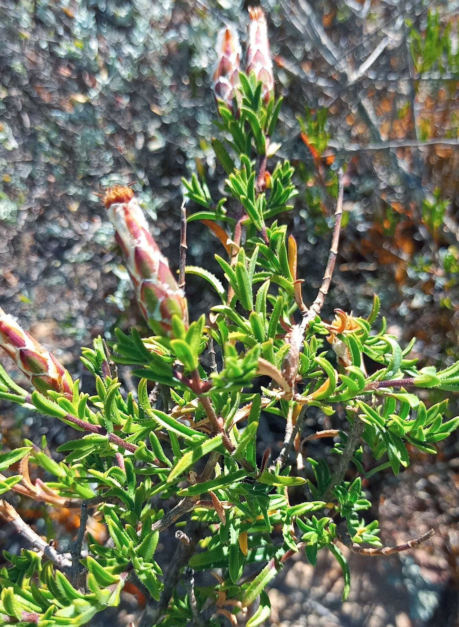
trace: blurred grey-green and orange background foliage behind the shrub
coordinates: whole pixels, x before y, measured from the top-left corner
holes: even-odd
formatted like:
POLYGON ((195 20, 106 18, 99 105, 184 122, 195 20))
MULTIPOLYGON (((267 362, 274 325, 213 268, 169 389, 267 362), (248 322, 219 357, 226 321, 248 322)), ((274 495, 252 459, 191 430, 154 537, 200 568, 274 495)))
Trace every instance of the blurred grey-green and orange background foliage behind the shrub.
MULTIPOLYGON (((75 375, 84 376, 81 345, 100 333, 110 339, 115 324, 142 325, 98 194, 113 182, 135 182, 152 231, 177 268, 180 177, 196 172, 210 189, 223 179, 210 144, 215 38, 232 23, 244 41, 245 4, 0 0, 0 302, 75 375)), ((285 98, 281 156, 296 167, 301 189, 294 211, 282 218, 299 245, 305 302, 321 281, 335 172, 343 165, 344 228, 325 317, 333 317, 333 307, 367 314, 377 292, 391 332, 418 338, 415 356, 426 364, 445 354, 452 361, 459 339, 459 2, 261 4, 276 90, 285 98)), ((189 263, 219 274, 219 246, 202 224, 189 225, 189 263)), ((196 317, 212 300, 203 288, 188 278, 196 317)), ((458 413, 454 404, 451 413, 458 413)), ((4 440, 13 445, 20 430, 35 427, 56 445, 67 437, 61 424, 33 422, 11 409, 3 416, 4 440)), ((273 433, 267 445, 275 427, 273 433)), ((383 475, 371 485, 386 538, 417 535, 420 520, 440 524, 436 552, 424 584, 421 558, 397 558, 393 587, 387 584, 389 594, 405 586, 398 611, 410 622, 397 622, 395 609, 383 604, 386 618, 378 623, 371 585, 363 582, 361 622, 346 623, 343 609, 326 604, 341 624, 453 624, 458 459, 457 441, 448 440, 435 468, 420 457, 408 478, 383 475)), ((38 525, 52 524, 42 512, 29 514, 38 525)), ((65 514, 60 522, 72 525, 65 514)), ((384 568, 378 566, 387 579, 384 568)), ((318 611, 324 584, 315 586, 301 615, 318 611)))

